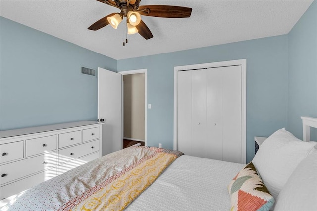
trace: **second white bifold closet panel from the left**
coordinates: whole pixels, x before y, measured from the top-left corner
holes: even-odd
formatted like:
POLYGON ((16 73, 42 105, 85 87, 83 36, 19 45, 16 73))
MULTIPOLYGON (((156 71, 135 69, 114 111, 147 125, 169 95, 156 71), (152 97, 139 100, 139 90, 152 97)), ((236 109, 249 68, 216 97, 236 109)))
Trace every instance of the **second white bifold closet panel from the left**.
POLYGON ((192 148, 195 156, 206 158, 206 69, 192 72, 192 148))

